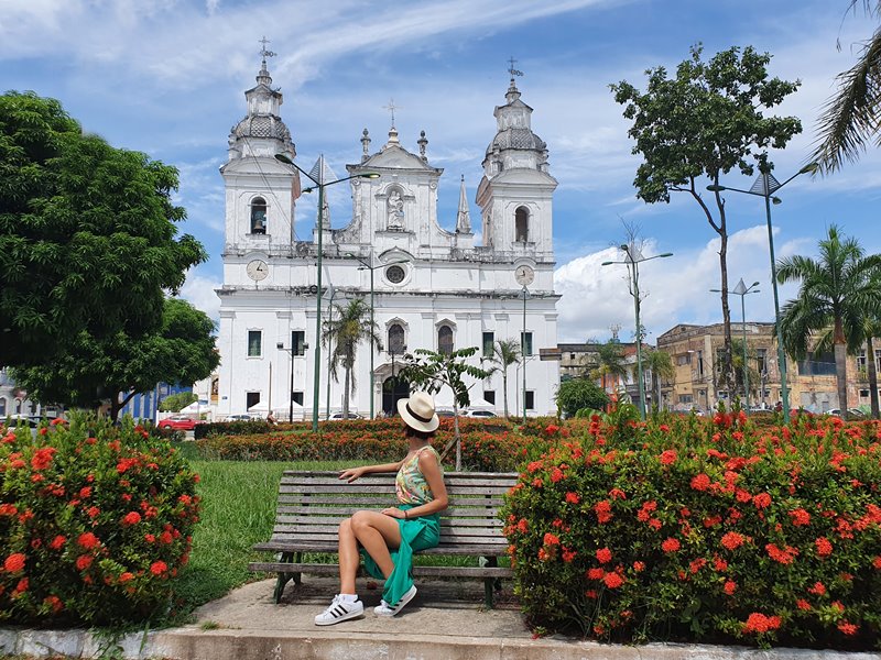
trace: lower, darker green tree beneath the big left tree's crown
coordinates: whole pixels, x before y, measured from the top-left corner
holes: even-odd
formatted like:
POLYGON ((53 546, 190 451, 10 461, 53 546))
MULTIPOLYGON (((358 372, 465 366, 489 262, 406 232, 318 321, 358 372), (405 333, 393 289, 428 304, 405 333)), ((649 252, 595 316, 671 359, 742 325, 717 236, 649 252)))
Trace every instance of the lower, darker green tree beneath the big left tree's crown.
POLYGON ((17 367, 13 380, 31 398, 86 408, 110 400, 110 418, 137 394, 159 383, 191 384, 211 375, 220 363, 214 321, 180 298, 166 298, 155 332, 93 337, 83 330, 52 369, 17 367))

